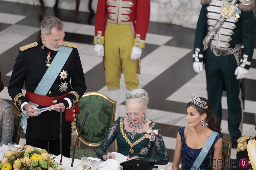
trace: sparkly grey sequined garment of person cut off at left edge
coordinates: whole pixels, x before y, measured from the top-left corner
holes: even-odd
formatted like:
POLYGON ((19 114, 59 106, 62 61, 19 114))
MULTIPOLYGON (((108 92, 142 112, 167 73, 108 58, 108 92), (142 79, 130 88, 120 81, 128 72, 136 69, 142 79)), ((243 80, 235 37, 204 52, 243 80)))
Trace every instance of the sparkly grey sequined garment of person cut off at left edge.
MULTIPOLYGON (((1 100, 1 99, 0 99, 1 100)), ((11 142, 13 137, 13 106, 5 100, 0 101, 0 146, 11 142)))

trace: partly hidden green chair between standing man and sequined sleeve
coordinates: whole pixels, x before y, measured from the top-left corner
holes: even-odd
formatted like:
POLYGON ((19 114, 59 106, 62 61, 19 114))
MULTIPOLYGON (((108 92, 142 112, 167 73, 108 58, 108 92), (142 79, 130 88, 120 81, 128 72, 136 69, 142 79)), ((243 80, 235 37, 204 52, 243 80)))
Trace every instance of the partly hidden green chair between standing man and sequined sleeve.
POLYGON ((20 142, 20 119, 21 119, 21 114, 19 111, 13 109, 13 115, 14 115, 14 127, 13 127, 13 138, 12 142, 19 144, 20 142))

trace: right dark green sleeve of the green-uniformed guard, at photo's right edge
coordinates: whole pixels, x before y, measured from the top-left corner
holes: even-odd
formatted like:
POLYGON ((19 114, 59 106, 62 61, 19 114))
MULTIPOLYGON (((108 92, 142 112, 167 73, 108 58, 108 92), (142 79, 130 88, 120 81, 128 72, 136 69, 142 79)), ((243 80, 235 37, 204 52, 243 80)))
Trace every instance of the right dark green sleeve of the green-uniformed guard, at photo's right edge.
POLYGON ((254 51, 254 15, 251 12, 242 12, 241 16, 241 38, 245 50, 240 61, 240 66, 249 69, 248 62, 252 61, 254 51))

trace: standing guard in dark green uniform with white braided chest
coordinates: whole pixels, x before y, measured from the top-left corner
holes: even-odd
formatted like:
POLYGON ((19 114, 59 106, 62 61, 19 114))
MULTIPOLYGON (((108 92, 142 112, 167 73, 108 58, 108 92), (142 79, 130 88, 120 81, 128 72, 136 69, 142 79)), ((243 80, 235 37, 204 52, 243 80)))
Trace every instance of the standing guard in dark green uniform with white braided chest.
POLYGON ((220 121, 222 92, 226 90, 229 133, 232 147, 236 148, 242 135, 241 83, 251 65, 254 48, 254 5, 249 0, 202 0, 201 4, 193 68, 202 73, 205 64, 208 100, 220 121))

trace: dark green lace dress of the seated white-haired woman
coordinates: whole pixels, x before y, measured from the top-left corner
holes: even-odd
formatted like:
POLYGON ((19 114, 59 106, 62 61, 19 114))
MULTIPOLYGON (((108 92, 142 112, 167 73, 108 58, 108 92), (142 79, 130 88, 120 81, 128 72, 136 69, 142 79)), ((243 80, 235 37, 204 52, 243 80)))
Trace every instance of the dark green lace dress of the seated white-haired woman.
MULTIPOLYGON (((152 125, 153 122, 150 123, 150 125, 152 125)), ((150 126, 149 125, 149 126, 150 126)), ((124 125, 125 126, 125 125, 124 125)), ((149 127, 145 127, 149 129, 149 127)), ((158 153, 158 157, 150 157, 150 152, 152 150, 152 147, 149 149, 148 144, 149 144, 149 139, 145 138, 143 141, 139 142, 138 144, 136 144, 133 149, 134 149, 134 153, 131 154, 129 152, 129 150, 131 149, 131 147, 129 146, 129 144, 125 141, 123 135, 120 133, 120 122, 119 119, 116 120, 109 128, 108 133, 106 134, 106 136, 104 137, 103 141, 101 142, 101 144, 96 148, 96 154, 98 156, 98 158, 103 159, 103 155, 106 155, 106 150, 108 148, 108 146, 113 143, 113 141, 115 140, 115 138, 117 138, 117 144, 118 144, 118 152, 123 154, 123 155, 129 155, 130 157, 133 156, 138 156, 139 158, 144 158, 143 160, 148 162, 150 165, 154 165, 154 164, 167 164, 169 161, 169 156, 167 153, 167 149, 165 147, 163 138, 162 138, 162 134, 160 132, 160 129, 158 127, 157 124, 154 125, 153 129, 157 129, 158 130, 158 135, 155 135, 155 140, 153 142, 151 142, 152 146, 155 146, 156 148, 156 152, 158 153), (142 155, 140 154, 140 150, 142 148, 147 148, 148 153, 146 155, 142 155)), ((146 133, 136 133, 135 134, 135 138, 132 139, 131 135, 132 133, 127 132, 124 129, 124 133, 128 136, 128 138, 130 139, 131 142, 135 142, 136 140, 138 140, 139 138, 143 137, 146 133)))

